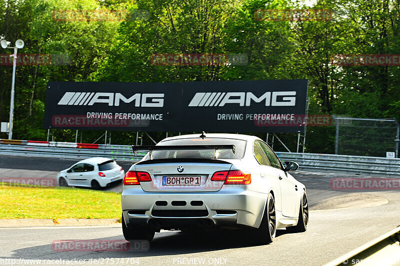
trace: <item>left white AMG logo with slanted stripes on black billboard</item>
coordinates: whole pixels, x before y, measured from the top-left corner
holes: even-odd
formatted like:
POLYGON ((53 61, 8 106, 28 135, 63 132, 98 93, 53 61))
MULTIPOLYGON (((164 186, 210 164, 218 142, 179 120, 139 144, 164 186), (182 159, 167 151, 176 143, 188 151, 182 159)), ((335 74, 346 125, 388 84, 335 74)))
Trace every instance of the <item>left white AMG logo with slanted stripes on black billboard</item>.
POLYGON ((125 98, 119 92, 65 92, 58 105, 108 103, 108 106, 119 106, 120 101, 124 103, 134 101, 135 107, 163 107, 163 98, 163 93, 135 93, 130 98, 125 98))

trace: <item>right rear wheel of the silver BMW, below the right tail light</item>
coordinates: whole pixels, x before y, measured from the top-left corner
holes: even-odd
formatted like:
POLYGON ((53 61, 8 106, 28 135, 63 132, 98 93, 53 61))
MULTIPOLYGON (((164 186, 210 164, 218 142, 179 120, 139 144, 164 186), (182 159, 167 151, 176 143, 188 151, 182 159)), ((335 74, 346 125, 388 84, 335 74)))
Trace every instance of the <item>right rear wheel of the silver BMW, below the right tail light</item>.
POLYGON ((272 243, 276 234, 276 214, 275 201, 271 193, 268 194, 266 200, 264 214, 262 216, 261 225, 254 230, 254 240, 256 244, 272 243))

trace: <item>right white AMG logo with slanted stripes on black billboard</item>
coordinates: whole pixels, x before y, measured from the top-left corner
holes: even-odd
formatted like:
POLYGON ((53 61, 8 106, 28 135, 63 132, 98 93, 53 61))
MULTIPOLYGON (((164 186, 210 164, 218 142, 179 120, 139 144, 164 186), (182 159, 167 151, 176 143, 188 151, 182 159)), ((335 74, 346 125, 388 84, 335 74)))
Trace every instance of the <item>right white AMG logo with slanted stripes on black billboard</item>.
POLYGON ((265 106, 295 106, 295 95, 295 91, 268 91, 259 97, 252 92, 197 92, 188 106, 224 106, 227 103, 250 106, 251 101, 265 101, 265 106))

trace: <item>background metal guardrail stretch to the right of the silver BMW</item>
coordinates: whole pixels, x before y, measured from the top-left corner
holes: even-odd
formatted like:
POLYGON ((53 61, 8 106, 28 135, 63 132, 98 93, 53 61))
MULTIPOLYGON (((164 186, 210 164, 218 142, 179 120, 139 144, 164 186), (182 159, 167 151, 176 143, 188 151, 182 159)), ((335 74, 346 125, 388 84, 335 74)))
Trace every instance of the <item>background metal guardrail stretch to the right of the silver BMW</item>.
POLYGON ((281 161, 294 161, 300 170, 400 178, 400 159, 368 156, 277 152, 281 161))

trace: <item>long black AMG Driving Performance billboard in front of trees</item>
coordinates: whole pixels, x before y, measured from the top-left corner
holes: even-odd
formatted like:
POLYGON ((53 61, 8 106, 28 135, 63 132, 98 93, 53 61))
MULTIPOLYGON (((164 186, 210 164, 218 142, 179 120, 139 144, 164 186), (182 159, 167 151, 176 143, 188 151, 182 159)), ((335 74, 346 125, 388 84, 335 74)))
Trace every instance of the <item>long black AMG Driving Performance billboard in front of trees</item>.
POLYGON ((48 82, 44 128, 304 133, 308 80, 48 82))

